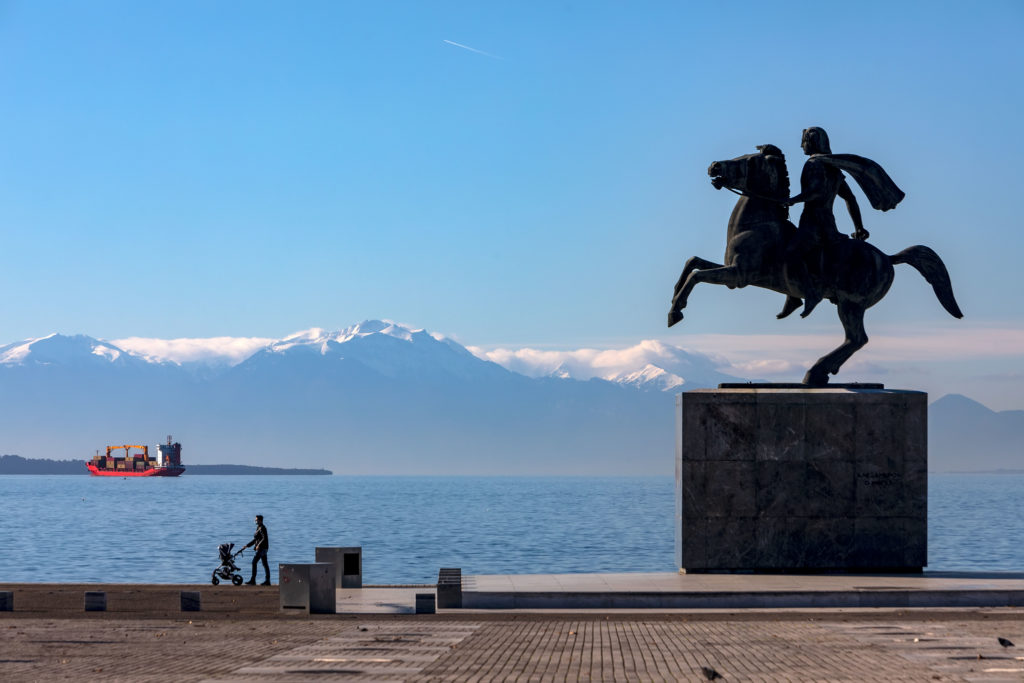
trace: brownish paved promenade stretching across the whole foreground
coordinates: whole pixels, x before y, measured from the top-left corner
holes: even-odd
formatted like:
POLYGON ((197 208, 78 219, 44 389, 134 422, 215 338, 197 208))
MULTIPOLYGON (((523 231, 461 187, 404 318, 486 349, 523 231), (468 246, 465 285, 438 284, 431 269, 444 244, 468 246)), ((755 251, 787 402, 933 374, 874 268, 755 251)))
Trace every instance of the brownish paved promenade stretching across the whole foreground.
POLYGON ((183 587, 105 587, 112 611, 89 613, 79 587, 11 588, 3 681, 1024 680, 1016 607, 308 617, 273 588, 206 587, 188 615, 183 587))

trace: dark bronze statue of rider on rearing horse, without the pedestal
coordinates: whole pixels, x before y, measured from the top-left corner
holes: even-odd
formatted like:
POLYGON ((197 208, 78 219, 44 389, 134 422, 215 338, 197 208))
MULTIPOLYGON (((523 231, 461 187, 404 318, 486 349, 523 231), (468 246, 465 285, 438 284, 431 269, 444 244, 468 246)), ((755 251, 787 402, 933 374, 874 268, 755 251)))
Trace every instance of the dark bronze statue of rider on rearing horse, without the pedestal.
POLYGON ((822 298, 839 308, 846 340, 807 371, 804 384, 825 386, 844 362, 867 343, 864 311, 889 291, 893 264, 909 263, 932 286, 942 307, 963 317, 953 297, 949 273, 938 254, 928 247, 908 247, 888 256, 866 242, 860 209, 843 171, 848 172, 881 211, 894 208, 903 191, 881 166, 856 155, 831 153, 821 128, 804 130, 801 141, 809 159, 801 173, 801 191, 790 198, 785 157, 774 144, 758 146, 757 154, 717 161, 708 168, 712 185, 740 195, 729 217, 725 264, 694 256, 686 261, 676 283, 669 310, 669 327, 683 319, 690 292, 698 283, 735 287, 763 287, 786 295, 777 317, 785 317, 804 303, 807 316, 822 298), (852 239, 836 227, 833 203, 842 198, 856 231, 852 239), (799 228, 790 222, 790 206, 804 203, 799 228))

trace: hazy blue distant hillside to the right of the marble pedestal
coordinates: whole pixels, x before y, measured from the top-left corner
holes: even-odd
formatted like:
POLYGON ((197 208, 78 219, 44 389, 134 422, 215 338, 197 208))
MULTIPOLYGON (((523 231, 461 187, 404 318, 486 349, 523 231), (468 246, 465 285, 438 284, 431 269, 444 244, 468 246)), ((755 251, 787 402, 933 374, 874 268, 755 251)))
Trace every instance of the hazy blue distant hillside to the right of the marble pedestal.
POLYGON ((991 411, 948 394, 928 410, 928 459, 933 472, 1024 469, 1024 411, 991 411))

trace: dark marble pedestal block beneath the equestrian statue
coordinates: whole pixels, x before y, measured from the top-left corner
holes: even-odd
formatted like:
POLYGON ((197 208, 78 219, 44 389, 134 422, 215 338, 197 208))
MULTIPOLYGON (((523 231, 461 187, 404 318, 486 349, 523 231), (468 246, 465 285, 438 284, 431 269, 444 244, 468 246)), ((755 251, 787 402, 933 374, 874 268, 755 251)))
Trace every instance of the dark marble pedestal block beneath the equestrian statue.
POLYGON ((921 571, 927 397, 758 385, 679 394, 680 569, 921 571))

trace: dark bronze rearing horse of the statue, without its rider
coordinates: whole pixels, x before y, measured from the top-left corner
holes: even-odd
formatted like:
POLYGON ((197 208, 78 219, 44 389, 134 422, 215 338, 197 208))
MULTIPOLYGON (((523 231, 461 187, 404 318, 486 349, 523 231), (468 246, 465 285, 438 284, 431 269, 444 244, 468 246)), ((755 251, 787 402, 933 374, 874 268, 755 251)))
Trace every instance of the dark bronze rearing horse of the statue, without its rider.
MULTIPOLYGON (((758 146, 758 153, 714 162, 708 168, 717 188, 727 187, 741 195, 729 217, 725 264, 694 256, 686 261, 676 283, 669 310, 669 327, 683 319, 682 309, 698 283, 735 287, 763 287, 785 294, 786 304, 778 317, 788 315, 804 297, 800 279, 788 276, 796 258, 790 245, 797 228, 790 222, 786 200, 790 176, 785 158, 773 144, 758 146)), ((928 247, 908 247, 888 256, 859 240, 842 238, 824 247, 829 264, 823 274, 822 294, 839 308, 846 340, 821 356, 807 371, 804 384, 824 386, 844 362, 867 343, 864 311, 889 291, 895 275, 894 263, 909 263, 932 286, 942 307, 953 317, 963 317, 953 297, 949 273, 938 254, 928 247)))

